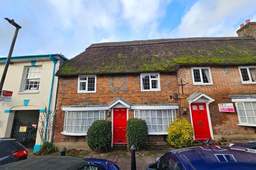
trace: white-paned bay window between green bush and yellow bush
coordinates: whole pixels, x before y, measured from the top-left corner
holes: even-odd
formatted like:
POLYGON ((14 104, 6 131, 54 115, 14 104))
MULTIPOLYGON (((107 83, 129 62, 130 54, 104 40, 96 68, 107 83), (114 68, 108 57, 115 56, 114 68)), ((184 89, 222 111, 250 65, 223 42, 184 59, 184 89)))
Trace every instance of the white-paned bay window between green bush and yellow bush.
POLYGON ((146 121, 149 134, 167 134, 176 118, 176 110, 135 110, 134 116, 146 121))

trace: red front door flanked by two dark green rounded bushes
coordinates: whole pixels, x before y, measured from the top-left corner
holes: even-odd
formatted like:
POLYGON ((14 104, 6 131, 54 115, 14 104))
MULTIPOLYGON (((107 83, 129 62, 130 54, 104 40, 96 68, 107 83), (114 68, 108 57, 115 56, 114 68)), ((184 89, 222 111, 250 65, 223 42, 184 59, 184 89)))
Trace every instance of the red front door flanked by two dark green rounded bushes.
POLYGON ((127 112, 126 108, 114 108, 113 112, 113 143, 126 144, 127 112))

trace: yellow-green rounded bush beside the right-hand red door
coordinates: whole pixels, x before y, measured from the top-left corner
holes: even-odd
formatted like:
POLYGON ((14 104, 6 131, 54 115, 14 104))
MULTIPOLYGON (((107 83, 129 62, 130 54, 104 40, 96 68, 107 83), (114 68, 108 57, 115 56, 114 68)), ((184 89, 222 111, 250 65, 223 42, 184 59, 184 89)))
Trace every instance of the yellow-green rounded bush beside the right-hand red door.
POLYGON ((186 148, 193 144, 194 131, 191 124, 181 118, 176 118, 169 126, 167 142, 175 148, 186 148))

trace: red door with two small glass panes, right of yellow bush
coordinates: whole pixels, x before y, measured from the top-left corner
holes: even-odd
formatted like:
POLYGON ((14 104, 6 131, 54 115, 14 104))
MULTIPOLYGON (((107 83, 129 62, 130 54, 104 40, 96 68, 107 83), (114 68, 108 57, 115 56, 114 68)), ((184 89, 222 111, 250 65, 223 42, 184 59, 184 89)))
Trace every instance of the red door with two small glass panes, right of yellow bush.
POLYGON ((206 104, 191 104, 191 112, 193 118, 193 128, 196 140, 205 140, 211 137, 206 104))

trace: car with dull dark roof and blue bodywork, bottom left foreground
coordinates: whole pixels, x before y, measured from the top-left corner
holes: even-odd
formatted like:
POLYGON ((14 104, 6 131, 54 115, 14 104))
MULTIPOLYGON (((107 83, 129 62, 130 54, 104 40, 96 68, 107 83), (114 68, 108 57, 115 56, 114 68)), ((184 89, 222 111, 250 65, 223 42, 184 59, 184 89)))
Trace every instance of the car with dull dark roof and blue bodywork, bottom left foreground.
POLYGON ((105 159, 79 159, 68 156, 40 156, 0 166, 2 170, 119 170, 119 167, 105 159))

